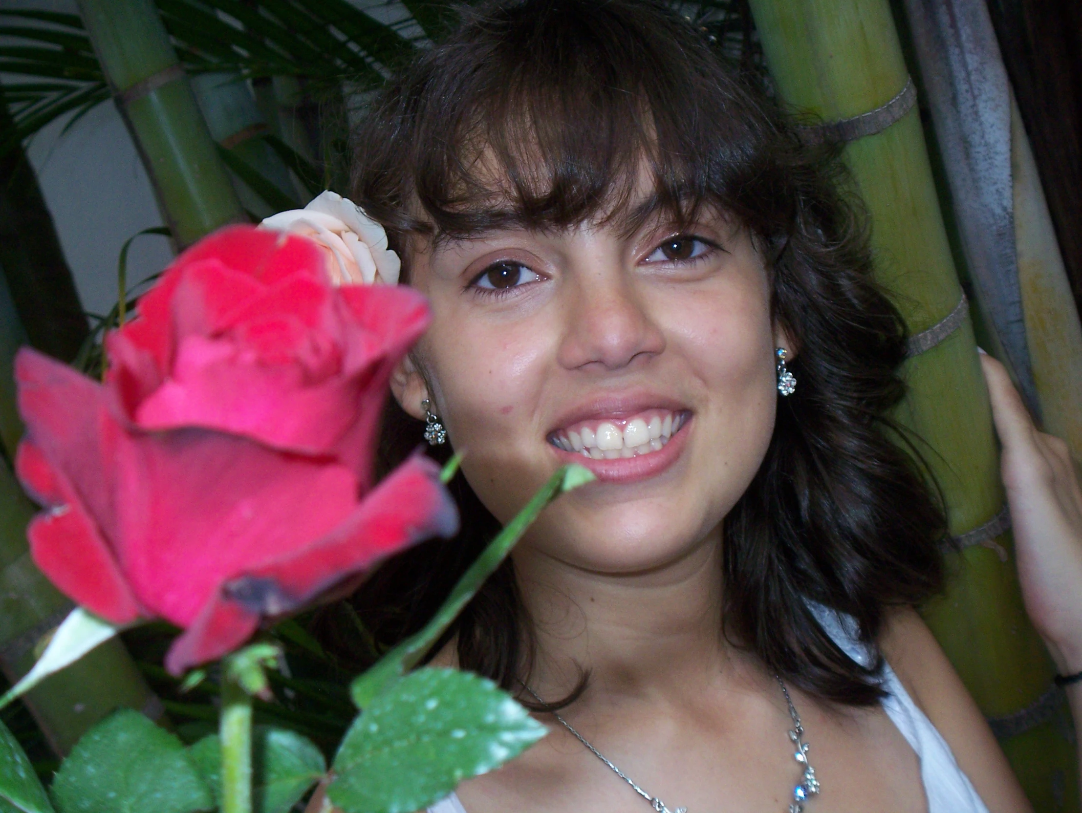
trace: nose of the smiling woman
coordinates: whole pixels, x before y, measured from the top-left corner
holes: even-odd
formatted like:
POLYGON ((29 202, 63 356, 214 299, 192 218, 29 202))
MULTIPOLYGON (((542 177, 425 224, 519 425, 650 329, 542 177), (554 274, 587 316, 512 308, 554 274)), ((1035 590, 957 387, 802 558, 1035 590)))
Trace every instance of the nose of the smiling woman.
POLYGON ((665 346, 649 299, 617 262, 575 275, 559 362, 569 370, 620 370, 645 362, 665 346))

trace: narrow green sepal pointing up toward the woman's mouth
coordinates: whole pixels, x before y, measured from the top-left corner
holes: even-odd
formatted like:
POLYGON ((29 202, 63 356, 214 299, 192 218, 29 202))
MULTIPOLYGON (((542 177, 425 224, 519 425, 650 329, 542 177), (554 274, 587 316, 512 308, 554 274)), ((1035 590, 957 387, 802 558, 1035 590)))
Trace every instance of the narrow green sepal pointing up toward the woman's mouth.
POLYGON ((470 569, 462 574, 432 619, 419 632, 392 649, 374 666, 353 681, 349 694, 357 707, 367 707, 380 692, 387 690, 421 662, 549 503, 559 494, 584 485, 593 479, 594 476, 590 470, 578 464, 572 463, 556 469, 556 474, 549 478, 526 507, 500 531, 470 569))

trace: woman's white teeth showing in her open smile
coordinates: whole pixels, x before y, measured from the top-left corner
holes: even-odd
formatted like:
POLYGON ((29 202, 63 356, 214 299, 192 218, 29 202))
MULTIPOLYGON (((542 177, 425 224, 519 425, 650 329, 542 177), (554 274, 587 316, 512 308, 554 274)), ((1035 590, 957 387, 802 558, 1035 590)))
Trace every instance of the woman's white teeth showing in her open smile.
POLYGON ((549 442, 595 461, 642 457, 664 449, 690 416, 687 410, 646 410, 626 418, 582 421, 552 432, 549 442))

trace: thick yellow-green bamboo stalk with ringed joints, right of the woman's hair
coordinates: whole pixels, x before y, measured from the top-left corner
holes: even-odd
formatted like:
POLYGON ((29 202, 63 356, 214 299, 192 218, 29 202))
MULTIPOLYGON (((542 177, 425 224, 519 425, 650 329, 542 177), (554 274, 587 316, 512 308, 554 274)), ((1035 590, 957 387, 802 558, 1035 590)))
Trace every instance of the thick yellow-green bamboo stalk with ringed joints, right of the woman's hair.
MULTIPOLYGON (((751 0, 781 97, 824 120, 873 110, 905 86, 908 71, 886 0, 751 0)), ((918 110, 845 148, 872 218, 876 275, 910 330, 923 331, 958 304, 961 288, 933 184, 918 110)), ((928 444, 953 534, 992 519, 1004 502, 988 395, 967 319, 906 368, 899 417, 928 444)), ((1012 550, 1010 534, 995 541, 1012 550)), ((1052 666, 1027 618, 1017 574, 992 549, 960 555, 947 595, 924 615, 986 715, 1028 707, 1051 685, 1052 666)), ((1074 754, 1051 723, 1003 743, 1038 810, 1056 787, 1072 788, 1074 754)), ((1060 800, 1061 801, 1061 800, 1060 800)), ((1071 801, 1077 805, 1077 801, 1071 801)))

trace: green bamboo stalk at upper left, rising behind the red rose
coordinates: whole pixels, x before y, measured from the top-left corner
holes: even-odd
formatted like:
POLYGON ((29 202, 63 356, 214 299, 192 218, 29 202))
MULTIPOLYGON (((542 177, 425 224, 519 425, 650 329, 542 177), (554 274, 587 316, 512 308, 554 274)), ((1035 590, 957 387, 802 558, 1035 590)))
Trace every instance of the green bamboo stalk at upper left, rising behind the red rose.
POLYGON ((79 10, 176 242, 247 219, 153 1, 79 10))

